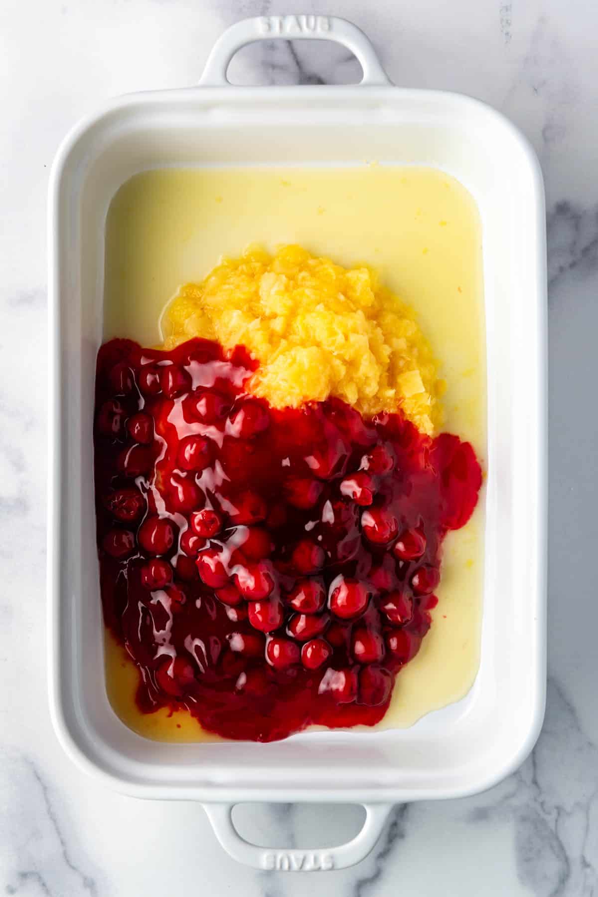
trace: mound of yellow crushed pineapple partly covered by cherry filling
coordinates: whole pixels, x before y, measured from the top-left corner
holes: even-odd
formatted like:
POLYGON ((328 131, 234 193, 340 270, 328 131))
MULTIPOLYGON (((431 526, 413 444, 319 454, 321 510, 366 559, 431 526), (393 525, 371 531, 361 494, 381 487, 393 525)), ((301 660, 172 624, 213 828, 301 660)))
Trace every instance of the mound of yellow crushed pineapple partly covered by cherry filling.
POLYGON ((260 363, 249 388, 274 407, 338 396, 362 414, 402 409, 426 433, 440 422, 428 341, 366 266, 252 247, 181 287, 162 326, 167 350, 193 336, 247 346, 260 363))

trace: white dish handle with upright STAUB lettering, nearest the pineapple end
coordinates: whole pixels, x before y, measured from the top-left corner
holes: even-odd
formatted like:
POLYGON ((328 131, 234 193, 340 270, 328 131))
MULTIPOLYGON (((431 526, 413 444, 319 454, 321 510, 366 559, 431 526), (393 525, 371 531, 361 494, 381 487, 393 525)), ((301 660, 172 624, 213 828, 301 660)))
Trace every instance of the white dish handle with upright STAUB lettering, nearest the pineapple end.
POLYGON ((230 60, 240 48, 254 40, 334 40, 351 50, 363 69, 361 84, 390 84, 380 64, 376 50, 357 25, 335 15, 264 15, 242 19, 231 25, 212 48, 200 79, 203 87, 229 84, 227 71, 230 60))

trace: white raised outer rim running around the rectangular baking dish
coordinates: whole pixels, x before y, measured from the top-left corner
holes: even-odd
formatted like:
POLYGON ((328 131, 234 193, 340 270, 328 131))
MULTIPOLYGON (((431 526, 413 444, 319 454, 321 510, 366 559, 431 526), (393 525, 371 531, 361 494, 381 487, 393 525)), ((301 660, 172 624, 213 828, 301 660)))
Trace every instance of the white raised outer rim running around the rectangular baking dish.
MULTIPOLYGON (((178 103, 188 102, 193 91, 201 91, 196 94, 202 104, 214 104, 220 106, 223 103, 237 103, 242 98, 243 102, 251 108, 252 103, 259 102, 262 105, 285 103, 295 100, 313 100, 313 89, 306 86, 297 87, 205 87, 184 88, 167 91, 148 91, 141 94, 130 94, 117 100, 104 103, 96 113, 82 119, 66 135, 56 153, 56 159, 52 166, 49 179, 49 204, 48 204, 48 236, 49 236, 49 277, 48 277, 48 314, 49 314, 49 426, 48 426, 48 659, 49 659, 49 701, 50 710, 56 730, 56 734, 68 753, 82 769, 93 772, 103 779, 111 787, 133 794, 137 797, 169 797, 190 799, 198 798, 204 801, 238 800, 239 790, 243 792, 243 800, 267 799, 270 801, 334 801, 334 802, 360 802, 362 800, 402 801, 405 799, 429 799, 431 797, 465 797, 490 788, 496 782, 504 779, 514 771, 530 753, 542 727, 546 692, 546 495, 547 495, 547 451, 546 451, 546 404, 547 404, 547 379, 546 379, 546 256, 545 256, 545 222, 542 172, 539 162, 533 152, 533 148, 526 138, 519 132, 507 118, 495 109, 491 109, 481 100, 474 100, 462 94, 445 91, 422 91, 419 89, 399 88, 390 86, 368 87, 367 98, 369 101, 377 100, 386 102, 389 99, 389 91, 392 99, 418 100, 422 104, 438 103, 442 101, 447 105, 459 105, 462 108, 475 109, 486 117, 491 117, 495 123, 506 129, 509 138, 519 144, 519 149, 524 152, 533 181, 533 194, 536 218, 536 258, 530 261, 538 272, 539 289, 535 300, 536 319, 538 330, 534 334, 537 370, 535 371, 537 392, 538 430, 536 431, 537 461, 536 500, 535 513, 537 553, 537 568, 534 570, 535 587, 533 592, 535 602, 535 634, 536 647, 533 663, 533 690, 535 693, 534 714, 529 720, 529 727, 516 750, 509 756, 505 756, 503 762, 495 769, 488 771, 480 779, 472 780, 468 787, 460 789, 421 788, 420 791, 411 788, 389 786, 384 789, 375 788, 367 790, 357 784, 352 788, 323 789, 306 785, 301 788, 284 788, 282 786, 272 789, 272 792, 264 792, 264 788, 242 788, 236 785, 227 788, 223 785, 156 785, 154 783, 143 784, 134 777, 129 779, 117 775, 105 768, 101 768, 98 762, 92 759, 91 753, 86 751, 82 743, 77 739, 72 725, 67 718, 64 705, 64 683, 62 681, 63 669, 59 658, 59 645, 62 632, 62 615, 60 601, 60 557, 62 546, 62 522, 60 508, 60 488, 62 481, 62 457, 63 440, 60 418, 60 394, 61 394, 61 332, 60 332, 60 229, 58 226, 60 214, 59 206, 62 198, 62 184, 65 179, 69 163, 72 161, 74 151, 80 141, 86 139, 94 129, 100 129, 109 124, 110 117, 125 113, 131 114, 134 109, 143 109, 152 104, 168 104, 176 107, 178 103), (240 97, 239 97, 240 94, 240 97)), ((334 97, 342 97, 343 101, 364 99, 364 88, 359 85, 342 85, 334 87, 318 87, 318 99, 326 100, 334 97)), ((530 301, 532 297, 530 298, 530 301)), ((334 738, 334 733, 325 733, 328 738, 334 738)), ((373 734, 371 734, 373 735, 373 734)), ((371 736, 368 734, 368 736, 371 736)))

